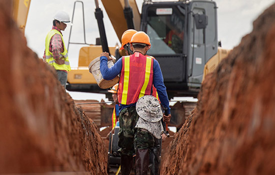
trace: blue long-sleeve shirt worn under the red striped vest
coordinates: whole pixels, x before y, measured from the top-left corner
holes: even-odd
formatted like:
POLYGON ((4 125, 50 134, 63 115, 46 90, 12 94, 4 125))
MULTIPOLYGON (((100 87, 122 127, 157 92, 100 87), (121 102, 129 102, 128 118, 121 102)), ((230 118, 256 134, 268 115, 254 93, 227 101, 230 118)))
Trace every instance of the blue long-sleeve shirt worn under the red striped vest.
MULTIPOLYGON (((102 77, 106 80, 113 79, 116 75, 121 72, 122 59, 118 59, 113 66, 108 68, 107 57, 100 56, 100 72, 102 77)), ((166 92, 166 87, 163 82, 162 72, 156 59, 153 59, 153 85, 158 93, 159 100, 163 107, 167 108, 168 114, 170 113, 169 100, 166 92)), ((119 111, 125 107, 135 105, 133 104, 119 104, 119 111)))

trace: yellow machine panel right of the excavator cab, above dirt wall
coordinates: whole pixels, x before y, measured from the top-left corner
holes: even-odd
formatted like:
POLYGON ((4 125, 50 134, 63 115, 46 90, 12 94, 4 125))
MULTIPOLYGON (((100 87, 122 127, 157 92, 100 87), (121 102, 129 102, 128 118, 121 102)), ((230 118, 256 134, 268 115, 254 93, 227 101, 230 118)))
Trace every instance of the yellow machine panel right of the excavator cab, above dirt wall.
POLYGON ((213 57, 211 57, 204 65, 202 81, 204 80, 204 77, 206 76, 206 74, 213 72, 215 70, 219 62, 223 58, 225 58, 230 51, 231 49, 224 49, 224 48, 218 47, 217 53, 213 57))

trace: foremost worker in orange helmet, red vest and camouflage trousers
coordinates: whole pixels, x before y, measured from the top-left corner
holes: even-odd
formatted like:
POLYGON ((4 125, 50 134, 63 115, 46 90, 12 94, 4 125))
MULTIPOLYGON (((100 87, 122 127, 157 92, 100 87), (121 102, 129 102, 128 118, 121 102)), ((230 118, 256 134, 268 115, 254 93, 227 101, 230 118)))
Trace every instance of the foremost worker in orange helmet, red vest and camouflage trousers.
POLYGON ((121 147, 121 174, 129 174, 132 166, 132 155, 136 152, 136 174, 147 174, 149 149, 154 146, 153 135, 145 129, 135 128, 139 118, 135 104, 139 97, 150 95, 152 85, 156 87, 161 104, 165 108, 165 122, 171 118, 166 87, 163 83, 159 64, 152 56, 146 56, 150 48, 149 36, 143 31, 136 32, 130 40, 133 54, 122 56, 108 68, 107 60, 111 59, 107 52, 100 53, 100 71, 104 79, 113 79, 120 74, 117 89, 119 103, 119 141, 121 147))

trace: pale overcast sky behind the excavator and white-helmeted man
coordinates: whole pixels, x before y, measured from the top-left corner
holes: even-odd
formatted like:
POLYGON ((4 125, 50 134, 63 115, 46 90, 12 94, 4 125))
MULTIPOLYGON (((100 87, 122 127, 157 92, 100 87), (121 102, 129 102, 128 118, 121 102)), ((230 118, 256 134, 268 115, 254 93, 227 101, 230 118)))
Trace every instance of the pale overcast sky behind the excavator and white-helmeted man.
MULTIPOLYGON (((47 32, 51 29, 53 15, 58 10, 67 11, 72 17, 73 4, 75 0, 31 0, 25 36, 27 45, 39 57, 44 51, 44 42, 47 32)), ((94 17, 94 0, 82 0, 84 4, 84 20, 86 42, 95 44, 95 38, 99 37, 96 19, 94 17)), ((99 6, 103 11, 103 21, 109 46, 116 43, 120 45, 113 27, 108 19, 104 7, 99 1, 99 6)), ((252 22, 263 12, 265 8, 275 3, 275 0, 214 0, 217 4, 217 27, 218 40, 223 48, 233 48, 238 45, 241 37, 252 30, 252 22)), ((143 0, 136 0, 139 11, 143 0)), ((83 22, 81 3, 76 3, 71 29, 71 42, 83 42, 83 22)), ((115 10, 115 9, 114 9, 115 10)), ((64 42, 67 46, 70 28, 63 31, 64 42)), ((68 55, 71 67, 77 67, 78 53, 80 47, 85 45, 69 45, 68 55)), ((69 92, 69 91, 68 91, 69 92)), ((69 92, 73 99, 105 99, 104 94, 69 92)), ((106 100, 106 99, 105 99, 106 100)), ((192 100, 192 99, 190 99, 192 100)))

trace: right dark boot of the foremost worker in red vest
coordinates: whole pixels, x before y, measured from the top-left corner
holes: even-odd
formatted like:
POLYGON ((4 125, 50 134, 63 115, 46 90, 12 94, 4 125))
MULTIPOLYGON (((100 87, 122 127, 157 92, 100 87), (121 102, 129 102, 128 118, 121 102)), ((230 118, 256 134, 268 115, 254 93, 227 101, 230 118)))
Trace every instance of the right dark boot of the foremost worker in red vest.
POLYGON ((137 149, 135 156, 136 175, 147 175, 149 165, 149 150, 137 149))

